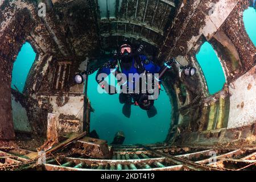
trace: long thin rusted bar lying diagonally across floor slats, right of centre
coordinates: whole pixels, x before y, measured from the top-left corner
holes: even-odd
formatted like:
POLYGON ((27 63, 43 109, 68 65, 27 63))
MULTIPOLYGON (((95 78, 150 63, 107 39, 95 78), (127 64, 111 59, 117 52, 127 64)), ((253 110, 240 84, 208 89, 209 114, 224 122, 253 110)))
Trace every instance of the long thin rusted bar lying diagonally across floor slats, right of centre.
POLYGON ((170 160, 172 163, 182 164, 182 165, 187 166, 188 168, 193 169, 193 170, 207 170, 207 171, 223 170, 221 168, 206 166, 204 164, 197 164, 197 163, 191 162, 189 160, 177 158, 177 157, 169 155, 169 154, 164 154, 163 152, 152 150, 150 147, 146 147, 146 146, 142 146, 142 145, 140 145, 140 146, 145 148, 148 151, 151 151, 155 155, 167 158, 167 160, 170 160))

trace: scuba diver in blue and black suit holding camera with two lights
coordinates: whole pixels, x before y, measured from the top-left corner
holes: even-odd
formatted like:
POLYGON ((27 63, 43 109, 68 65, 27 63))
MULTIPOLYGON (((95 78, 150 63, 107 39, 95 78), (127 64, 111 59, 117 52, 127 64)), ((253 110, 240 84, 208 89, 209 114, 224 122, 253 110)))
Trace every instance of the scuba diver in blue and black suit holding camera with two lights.
MULTIPOLYGON (((133 49, 132 44, 127 39, 123 40, 118 51, 115 51, 113 59, 102 65, 96 75, 96 81, 100 88, 112 95, 116 94, 117 90, 115 86, 108 84, 105 78, 110 75, 110 73, 113 73, 122 90, 122 92, 119 93, 119 102, 123 104, 122 113, 127 118, 130 118, 131 115, 131 105, 139 106, 141 109, 146 110, 148 118, 154 117, 157 114, 154 100, 158 98, 159 92, 162 90, 160 79, 173 64, 178 65, 179 72, 184 71, 187 76, 193 76, 196 72, 195 68, 188 66, 183 67, 174 58, 166 61, 162 67, 159 67, 149 60, 147 56, 141 54, 142 49, 142 45, 137 49, 133 49), (130 75, 133 75, 132 79, 130 79, 130 75), (143 80, 141 75, 146 75, 146 80, 143 80), (151 75, 151 77, 148 77, 148 75, 151 75), (125 76, 126 79, 124 79, 123 76, 125 76), (146 83, 144 84, 147 85, 146 89, 145 86, 143 88, 143 83, 146 83), (150 83, 152 83, 152 85, 150 85, 150 83), (150 89, 148 89, 148 85, 151 86, 150 89), (139 89, 137 90, 137 88, 139 89), (126 92, 123 92, 123 90, 126 90, 126 92)), ((92 72, 93 71, 84 71, 76 74, 75 82, 81 84, 85 80, 85 75, 89 75, 92 72)))

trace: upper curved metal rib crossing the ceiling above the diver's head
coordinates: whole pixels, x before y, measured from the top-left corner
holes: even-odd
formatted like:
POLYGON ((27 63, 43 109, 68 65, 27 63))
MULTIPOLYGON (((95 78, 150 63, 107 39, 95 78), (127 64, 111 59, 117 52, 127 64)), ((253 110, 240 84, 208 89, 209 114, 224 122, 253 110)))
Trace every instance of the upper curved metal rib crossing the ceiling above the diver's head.
POLYGON ((129 21, 129 20, 123 20, 123 19, 110 19, 110 20, 101 20, 101 23, 123 23, 123 24, 133 24, 134 26, 140 26, 143 28, 147 28, 148 30, 154 31, 156 34, 160 34, 163 36, 163 31, 159 30, 158 28, 151 27, 150 25, 146 23, 141 23, 137 21, 129 21))

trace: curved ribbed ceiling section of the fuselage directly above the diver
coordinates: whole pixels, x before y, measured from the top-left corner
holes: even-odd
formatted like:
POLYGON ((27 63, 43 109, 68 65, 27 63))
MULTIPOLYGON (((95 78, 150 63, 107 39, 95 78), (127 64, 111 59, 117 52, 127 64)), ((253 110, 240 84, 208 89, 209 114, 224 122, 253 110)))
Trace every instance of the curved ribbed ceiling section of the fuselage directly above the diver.
POLYGON ((176 5, 170 0, 106 0, 98 1, 98 7, 103 48, 105 42, 116 43, 123 36, 158 48, 176 5))

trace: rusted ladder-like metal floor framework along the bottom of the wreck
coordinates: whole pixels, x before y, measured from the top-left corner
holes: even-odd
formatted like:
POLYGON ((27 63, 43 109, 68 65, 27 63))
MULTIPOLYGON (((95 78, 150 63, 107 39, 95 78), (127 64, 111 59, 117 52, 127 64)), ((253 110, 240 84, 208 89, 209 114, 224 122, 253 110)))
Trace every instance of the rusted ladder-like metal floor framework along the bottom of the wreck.
MULTIPOLYGON (((112 159, 94 159, 85 155, 58 151, 38 165, 36 159, 24 158, 30 151, 0 151, 0 170, 39 169, 57 171, 140 170, 256 170, 256 148, 220 149, 162 145, 110 146, 112 159)), ((66 148, 67 149, 67 148, 66 148)))

